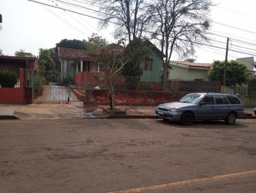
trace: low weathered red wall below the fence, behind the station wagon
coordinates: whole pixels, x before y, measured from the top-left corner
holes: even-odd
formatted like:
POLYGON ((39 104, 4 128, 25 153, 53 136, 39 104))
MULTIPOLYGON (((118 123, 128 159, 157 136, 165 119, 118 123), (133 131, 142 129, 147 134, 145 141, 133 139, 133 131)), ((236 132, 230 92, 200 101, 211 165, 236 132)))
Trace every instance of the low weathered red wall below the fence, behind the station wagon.
MULTIPOLYGON (((187 93, 157 91, 115 91, 116 105, 158 105, 174 102, 187 93)), ((86 89, 86 103, 109 104, 108 90, 86 89)))

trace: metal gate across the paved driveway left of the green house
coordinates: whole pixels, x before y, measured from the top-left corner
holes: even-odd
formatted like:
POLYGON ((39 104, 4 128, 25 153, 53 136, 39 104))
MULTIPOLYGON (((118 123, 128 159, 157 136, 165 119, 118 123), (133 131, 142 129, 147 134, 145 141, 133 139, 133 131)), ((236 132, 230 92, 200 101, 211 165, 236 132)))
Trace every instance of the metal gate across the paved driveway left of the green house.
POLYGON ((84 88, 72 80, 61 79, 58 72, 31 71, 29 79, 33 102, 81 102, 76 93, 84 94, 84 88))

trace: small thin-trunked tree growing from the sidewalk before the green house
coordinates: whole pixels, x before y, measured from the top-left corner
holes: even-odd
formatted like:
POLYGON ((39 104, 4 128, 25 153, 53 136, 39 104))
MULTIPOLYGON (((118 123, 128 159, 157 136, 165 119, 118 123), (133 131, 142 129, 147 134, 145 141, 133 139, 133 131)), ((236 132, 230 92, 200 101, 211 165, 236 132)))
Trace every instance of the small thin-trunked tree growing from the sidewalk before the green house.
POLYGON ((99 61, 100 70, 104 73, 104 76, 106 76, 109 89, 109 104, 111 111, 113 111, 115 109, 113 80, 116 74, 127 64, 128 60, 125 60, 122 50, 109 50, 108 47, 103 47, 100 49, 97 61, 99 61))

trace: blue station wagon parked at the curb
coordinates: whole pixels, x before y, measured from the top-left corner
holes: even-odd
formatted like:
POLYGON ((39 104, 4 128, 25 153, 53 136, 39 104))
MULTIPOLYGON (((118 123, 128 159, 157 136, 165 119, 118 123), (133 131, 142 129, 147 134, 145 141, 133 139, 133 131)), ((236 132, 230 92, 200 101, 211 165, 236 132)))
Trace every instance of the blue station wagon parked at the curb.
POLYGON ((225 120, 228 125, 244 115, 242 102, 226 93, 190 93, 179 102, 157 106, 156 115, 164 120, 191 125, 194 120, 225 120))

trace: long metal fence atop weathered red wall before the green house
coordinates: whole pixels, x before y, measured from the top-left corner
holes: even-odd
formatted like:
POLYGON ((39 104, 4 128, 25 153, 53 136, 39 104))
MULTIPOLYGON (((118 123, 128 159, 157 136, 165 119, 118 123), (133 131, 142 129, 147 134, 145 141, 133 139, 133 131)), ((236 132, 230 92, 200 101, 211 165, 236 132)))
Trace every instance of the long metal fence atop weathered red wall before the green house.
MULTIPOLYGON (((88 75, 87 75, 88 77, 88 75)), ((86 89, 93 89, 99 86, 100 89, 108 89, 108 84, 104 77, 99 74, 91 75, 90 79, 84 82, 86 89)), ((163 82, 156 79, 143 77, 122 77, 118 75, 113 81, 116 91, 136 90, 136 91, 163 91, 163 82)), ((220 92, 220 82, 189 81, 189 80, 168 80, 168 91, 180 92, 220 92)))

